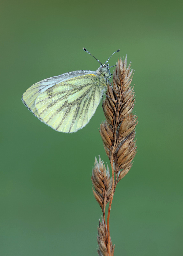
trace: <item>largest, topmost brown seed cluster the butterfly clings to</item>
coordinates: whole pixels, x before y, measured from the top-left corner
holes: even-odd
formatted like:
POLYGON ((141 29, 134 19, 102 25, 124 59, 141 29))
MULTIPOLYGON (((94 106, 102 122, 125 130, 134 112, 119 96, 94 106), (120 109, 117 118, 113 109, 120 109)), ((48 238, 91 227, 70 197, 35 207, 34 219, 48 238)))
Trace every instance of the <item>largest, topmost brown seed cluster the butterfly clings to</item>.
POLYGON ((103 102, 106 121, 100 125, 100 135, 104 149, 110 160, 113 152, 115 173, 117 182, 127 174, 119 172, 131 168, 132 160, 136 154, 135 127, 138 123, 137 116, 132 114, 135 104, 134 89, 130 86, 133 69, 131 62, 127 68, 127 56, 125 60, 118 60, 113 74, 113 86, 107 88, 107 96, 103 102))

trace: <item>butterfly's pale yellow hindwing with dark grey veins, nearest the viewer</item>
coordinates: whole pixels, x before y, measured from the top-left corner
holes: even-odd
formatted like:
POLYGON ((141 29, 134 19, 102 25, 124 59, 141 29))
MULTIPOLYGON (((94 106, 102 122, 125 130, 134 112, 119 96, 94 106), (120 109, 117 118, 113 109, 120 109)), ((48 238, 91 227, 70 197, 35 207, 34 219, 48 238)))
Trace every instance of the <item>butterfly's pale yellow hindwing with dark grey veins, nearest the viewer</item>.
POLYGON ((102 97, 102 88, 96 75, 78 76, 36 95, 34 106, 30 108, 53 129, 76 132, 94 115, 102 97))

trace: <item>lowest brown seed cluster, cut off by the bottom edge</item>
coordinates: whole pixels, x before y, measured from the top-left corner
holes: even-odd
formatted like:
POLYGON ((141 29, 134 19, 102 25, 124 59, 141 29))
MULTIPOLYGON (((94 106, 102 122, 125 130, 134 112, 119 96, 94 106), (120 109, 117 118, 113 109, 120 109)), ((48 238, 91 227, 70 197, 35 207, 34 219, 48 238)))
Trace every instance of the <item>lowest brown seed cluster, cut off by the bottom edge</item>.
MULTIPOLYGON (((98 236, 97 236, 97 242, 98 242, 98 254, 99 256, 108 256, 108 251, 107 251, 107 236, 106 236, 106 229, 107 229, 107 226, 105 225, 104 223, 104 220, 102 218, 102 221, 100 222, 99 220, 99 227, 97 227, 98 229, 98 236)), ((114 255, 114 247, 115 245, 112 244, 111 242, 111 239, 110 239, 110 253, 111 253, 111 256, 114 255)))

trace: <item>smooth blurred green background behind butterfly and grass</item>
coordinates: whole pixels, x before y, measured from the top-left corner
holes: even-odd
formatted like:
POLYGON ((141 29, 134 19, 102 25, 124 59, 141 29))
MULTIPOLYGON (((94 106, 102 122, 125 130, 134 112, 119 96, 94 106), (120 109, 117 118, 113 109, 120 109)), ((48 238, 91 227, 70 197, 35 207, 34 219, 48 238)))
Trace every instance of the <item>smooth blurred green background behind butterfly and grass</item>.
MULTIPOLYGON (((21 101, 32 84, 96 70, 117 49, 135 69, 138 152, 111 211, 115 256, 182 255, 181 1, 1 1, 1 256, 97 255, 101 209, 91 189, 104 162, 94 117, 74 134, 41 123, 21 101)), ((112 71, 112 70, 111 70, 112 71)))

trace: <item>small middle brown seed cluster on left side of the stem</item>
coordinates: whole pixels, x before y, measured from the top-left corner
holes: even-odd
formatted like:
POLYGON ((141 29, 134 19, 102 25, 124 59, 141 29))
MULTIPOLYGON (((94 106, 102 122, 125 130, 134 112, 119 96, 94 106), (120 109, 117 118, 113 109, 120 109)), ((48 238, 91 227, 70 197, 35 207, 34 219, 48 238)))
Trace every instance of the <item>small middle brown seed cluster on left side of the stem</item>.
POLYGON ((112 190, 112 179, 109 173, 109 167, 107 169, 104 165, 104 162, 101 161, 99 156, 99 163, 95 157, 95 166, 92 169, 91 180, 93 187, 93 194, 95 199, 99 203, 102 210, 105 210, 106 204, 109 202, 111 190, 112 190))

